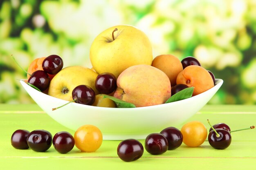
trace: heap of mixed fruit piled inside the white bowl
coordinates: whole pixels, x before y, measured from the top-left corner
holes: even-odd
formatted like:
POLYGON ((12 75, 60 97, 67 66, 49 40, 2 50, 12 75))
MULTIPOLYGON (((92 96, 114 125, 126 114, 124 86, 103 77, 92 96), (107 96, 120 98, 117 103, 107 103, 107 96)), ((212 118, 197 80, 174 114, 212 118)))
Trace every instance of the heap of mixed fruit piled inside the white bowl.
POLYGON ((184 88, 193 87, 194 96, 215 85, 213 73, 195 57, 153 59, 146 34, 128 25, 100 33, 92 42, 90 61, 92 68, 63 68, 58 55, 40 57, 31 62, 26 82, 53 97, 102 107, 123 107, 120 100, 131 104, 126 107, 164 104, 184 88))

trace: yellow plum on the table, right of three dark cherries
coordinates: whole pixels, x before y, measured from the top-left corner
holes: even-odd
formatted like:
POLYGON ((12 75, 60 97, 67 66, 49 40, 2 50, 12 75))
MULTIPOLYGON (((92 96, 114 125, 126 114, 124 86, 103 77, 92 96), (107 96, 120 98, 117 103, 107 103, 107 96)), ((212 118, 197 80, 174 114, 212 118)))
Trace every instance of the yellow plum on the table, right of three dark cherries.
POLYGON ((102 138, 101 130, 93 125, 83 125, 74 134, 76 148, 83 152, 94 152, 99 149, 102 138))

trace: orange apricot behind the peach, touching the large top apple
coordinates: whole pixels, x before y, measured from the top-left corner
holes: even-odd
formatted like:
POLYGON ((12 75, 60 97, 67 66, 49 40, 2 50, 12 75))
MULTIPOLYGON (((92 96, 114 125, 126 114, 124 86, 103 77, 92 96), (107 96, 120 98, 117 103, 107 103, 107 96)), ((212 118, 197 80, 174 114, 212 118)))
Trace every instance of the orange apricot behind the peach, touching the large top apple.
POLYGON ((158 55, 152 66, 162 70, 170 79, 171 86, 176 85, 177 75, 183 70, 180 60, 171 54, 158 55))

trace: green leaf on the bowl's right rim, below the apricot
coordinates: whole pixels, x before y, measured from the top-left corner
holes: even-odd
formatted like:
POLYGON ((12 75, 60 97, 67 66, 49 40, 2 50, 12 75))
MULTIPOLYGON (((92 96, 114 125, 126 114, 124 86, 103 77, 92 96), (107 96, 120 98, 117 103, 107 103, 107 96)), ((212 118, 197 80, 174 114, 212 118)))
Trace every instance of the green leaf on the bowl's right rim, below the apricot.
POLYGON ((176 102, 179 100, 183 100, 183 99, 192 97, 193 91, 194 91, 194 87, 185 88, 182 91, 179 91, 178 93, 171 96, 165 103, 176 102))

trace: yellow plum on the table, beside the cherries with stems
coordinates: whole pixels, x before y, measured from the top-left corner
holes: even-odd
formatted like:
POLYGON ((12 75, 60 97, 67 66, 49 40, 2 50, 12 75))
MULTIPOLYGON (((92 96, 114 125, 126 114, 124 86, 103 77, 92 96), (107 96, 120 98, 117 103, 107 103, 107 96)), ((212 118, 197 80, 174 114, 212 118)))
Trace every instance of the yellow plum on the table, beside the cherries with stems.
POLYGON ((207 138, 207 129, 200 121, 191 121, 181 128, 183 143, 189 147, 197 147, 207 138))

